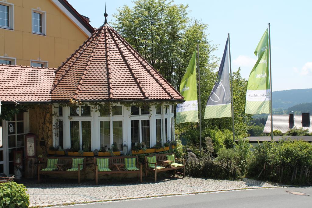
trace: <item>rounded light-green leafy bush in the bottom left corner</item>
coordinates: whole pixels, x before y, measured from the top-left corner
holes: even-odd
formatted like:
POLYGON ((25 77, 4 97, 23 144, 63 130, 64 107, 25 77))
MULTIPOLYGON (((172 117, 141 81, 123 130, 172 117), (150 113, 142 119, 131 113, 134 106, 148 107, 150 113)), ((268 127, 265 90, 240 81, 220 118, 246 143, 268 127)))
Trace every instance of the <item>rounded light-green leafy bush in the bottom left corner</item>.
POLYGON ((16 182, 0 184, 0 207, 28 207, 29 195, 25 188, 16 182))

